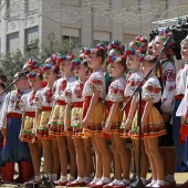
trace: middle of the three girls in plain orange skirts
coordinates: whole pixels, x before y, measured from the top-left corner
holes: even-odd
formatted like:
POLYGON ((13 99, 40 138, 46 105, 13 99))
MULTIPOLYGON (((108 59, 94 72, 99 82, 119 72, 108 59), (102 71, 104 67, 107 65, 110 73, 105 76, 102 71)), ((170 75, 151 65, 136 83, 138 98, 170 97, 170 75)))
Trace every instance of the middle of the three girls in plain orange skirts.
POLYGON ((114 167, 115 167, 115 179, 113 182, 104 186, 105 188, 111 187, 126 187, 129 186, 129 168, 130 168, 130 150, 126 148, 125 140, 119 137, 119 127, 122 124, 123 113, 122 104, 124 101, 124 87, 125 80, 123 77, 126 71, 125 56, 108 56, 107 62, 109 63, 109 75, 113 76, 114 81, 111 83, 108 88, 107 101, 107 118, 104 125, 104 136, 111 135, 113 153, 114 155, 114 167), (114 152, 116 150, 116 152, 114 152), (123 173, 123 178, 122 178, 123 173))

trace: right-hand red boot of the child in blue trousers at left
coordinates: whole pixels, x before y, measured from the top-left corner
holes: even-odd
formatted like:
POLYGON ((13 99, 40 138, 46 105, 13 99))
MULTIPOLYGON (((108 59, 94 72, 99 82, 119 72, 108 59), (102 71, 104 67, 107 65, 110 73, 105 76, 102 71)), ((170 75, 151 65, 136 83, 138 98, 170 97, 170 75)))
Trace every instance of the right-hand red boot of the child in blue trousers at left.
POLYGON ((33 176, 33 167, 31 161, 21 161, 21 175, 23 177, 23 182, 29 181, 33 176))

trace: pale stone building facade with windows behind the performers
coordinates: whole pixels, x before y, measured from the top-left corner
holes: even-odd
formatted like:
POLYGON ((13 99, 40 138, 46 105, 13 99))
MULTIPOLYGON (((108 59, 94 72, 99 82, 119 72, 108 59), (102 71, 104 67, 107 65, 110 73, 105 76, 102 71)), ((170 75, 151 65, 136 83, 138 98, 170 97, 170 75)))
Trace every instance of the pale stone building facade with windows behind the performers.
POLYGON ((1 54, 15 52, 17 49, 24 53, 25 45, 35 41, 39 41, 39 48, 48 45, 46 39, 52 32, 58 41, 69 39, 70 45, 74 42, 75 52, 82 46, 93 46, 100 41, 108 43, 112 40, 121 40, 126 44, 137 34, 149 35, 154 29, 152 22, 158 21, 170 7, 179 4, 188 6, 188 2, 1 0, 1 54))

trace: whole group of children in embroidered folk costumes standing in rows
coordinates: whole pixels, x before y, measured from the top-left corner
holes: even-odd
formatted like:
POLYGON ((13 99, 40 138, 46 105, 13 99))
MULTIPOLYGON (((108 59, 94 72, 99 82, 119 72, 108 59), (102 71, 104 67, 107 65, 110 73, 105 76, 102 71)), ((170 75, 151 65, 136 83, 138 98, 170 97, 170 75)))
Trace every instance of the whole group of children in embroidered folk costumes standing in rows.
MULTIPOLYGON (((145 187, 176 188, 175 171, 188 165, 188 39, 180 43, 185 63, 177 73, 173 45, 166 29, 149 43, 138 35, 127 46, 117 40, 85 46, 77 58, 54 53, 42 67, 28 60, 22 72, 30 73, 15 73, 15 90, 0 97, 2 180, 40 184, 43 156, 55 186, 126 188, 140 177, 145 187), (132 95, 140 83, 139 103, 139 94, 132 95)), ((1 93, 6 83, 0 75, 1 93)))

